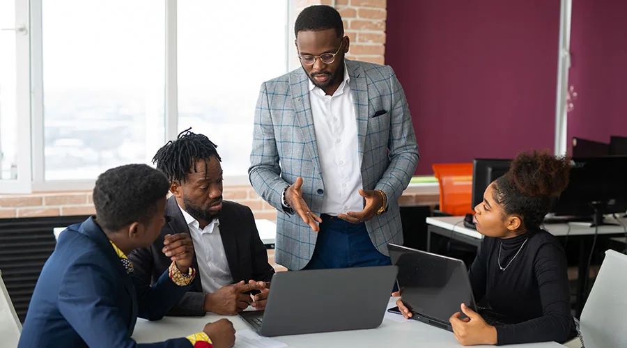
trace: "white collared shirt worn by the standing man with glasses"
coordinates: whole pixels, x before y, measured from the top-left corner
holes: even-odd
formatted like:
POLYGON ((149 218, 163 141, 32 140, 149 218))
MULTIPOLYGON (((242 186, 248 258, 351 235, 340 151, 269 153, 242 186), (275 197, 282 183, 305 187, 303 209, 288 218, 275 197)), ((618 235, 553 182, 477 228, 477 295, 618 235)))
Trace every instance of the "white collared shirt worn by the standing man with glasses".
POLYGON ((322 167, 325 193, 322 214, 361 212, 364 200, 357 143, 357 117, 350 77, 344 63, 344 79, 333 95, 326 95, 309 80, 309 100, 322 167))

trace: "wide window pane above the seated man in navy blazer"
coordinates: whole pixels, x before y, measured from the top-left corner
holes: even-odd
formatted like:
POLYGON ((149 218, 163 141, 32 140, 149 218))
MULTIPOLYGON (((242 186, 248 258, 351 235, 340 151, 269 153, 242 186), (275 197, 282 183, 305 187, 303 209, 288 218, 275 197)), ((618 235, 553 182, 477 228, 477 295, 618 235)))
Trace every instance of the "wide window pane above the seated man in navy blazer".
POLYGON ((163 145, 164 17, 163 1, 42 2, 45 180, 93 180, 163 145))

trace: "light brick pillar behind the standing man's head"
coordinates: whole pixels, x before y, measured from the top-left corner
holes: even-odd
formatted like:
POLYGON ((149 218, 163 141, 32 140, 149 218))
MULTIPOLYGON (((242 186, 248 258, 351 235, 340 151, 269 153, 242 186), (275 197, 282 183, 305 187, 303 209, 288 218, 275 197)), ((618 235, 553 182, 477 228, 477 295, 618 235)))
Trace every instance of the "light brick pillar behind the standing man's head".
POLYGON ((386 0, 299 0, 295 15, 310 5, 330 5, 342 16, 350 38, 346 58, 383 64, 385 62, 386 0))

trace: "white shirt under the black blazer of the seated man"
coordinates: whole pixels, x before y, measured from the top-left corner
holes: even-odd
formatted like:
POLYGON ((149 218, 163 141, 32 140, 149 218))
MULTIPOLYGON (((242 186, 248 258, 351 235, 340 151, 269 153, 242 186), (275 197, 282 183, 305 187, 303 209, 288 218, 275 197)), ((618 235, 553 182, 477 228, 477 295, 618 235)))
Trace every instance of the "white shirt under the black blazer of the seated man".
POLYGON ((229 262, 226 261, 226 253, 224 252, 224 244, 222 244, 222 237, 220 237, 220 221, 213 219, 201 230, 198 221, 185 212, 180 205, 178 207, 185 216, 189 234, 192 235, 203 292, 210 294, 224 285, 232 284, 233 276, 231 276, 229 262))

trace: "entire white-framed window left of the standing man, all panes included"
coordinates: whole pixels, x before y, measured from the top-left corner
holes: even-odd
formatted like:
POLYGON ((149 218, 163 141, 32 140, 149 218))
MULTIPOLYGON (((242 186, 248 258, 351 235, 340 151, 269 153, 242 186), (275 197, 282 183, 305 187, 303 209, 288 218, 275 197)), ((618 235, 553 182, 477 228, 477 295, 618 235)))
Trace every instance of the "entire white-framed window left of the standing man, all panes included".
POLYGON ((288 0, 0 1, 0 193, 91 189, 188 127, 244 178, 287 25, 288 0))

